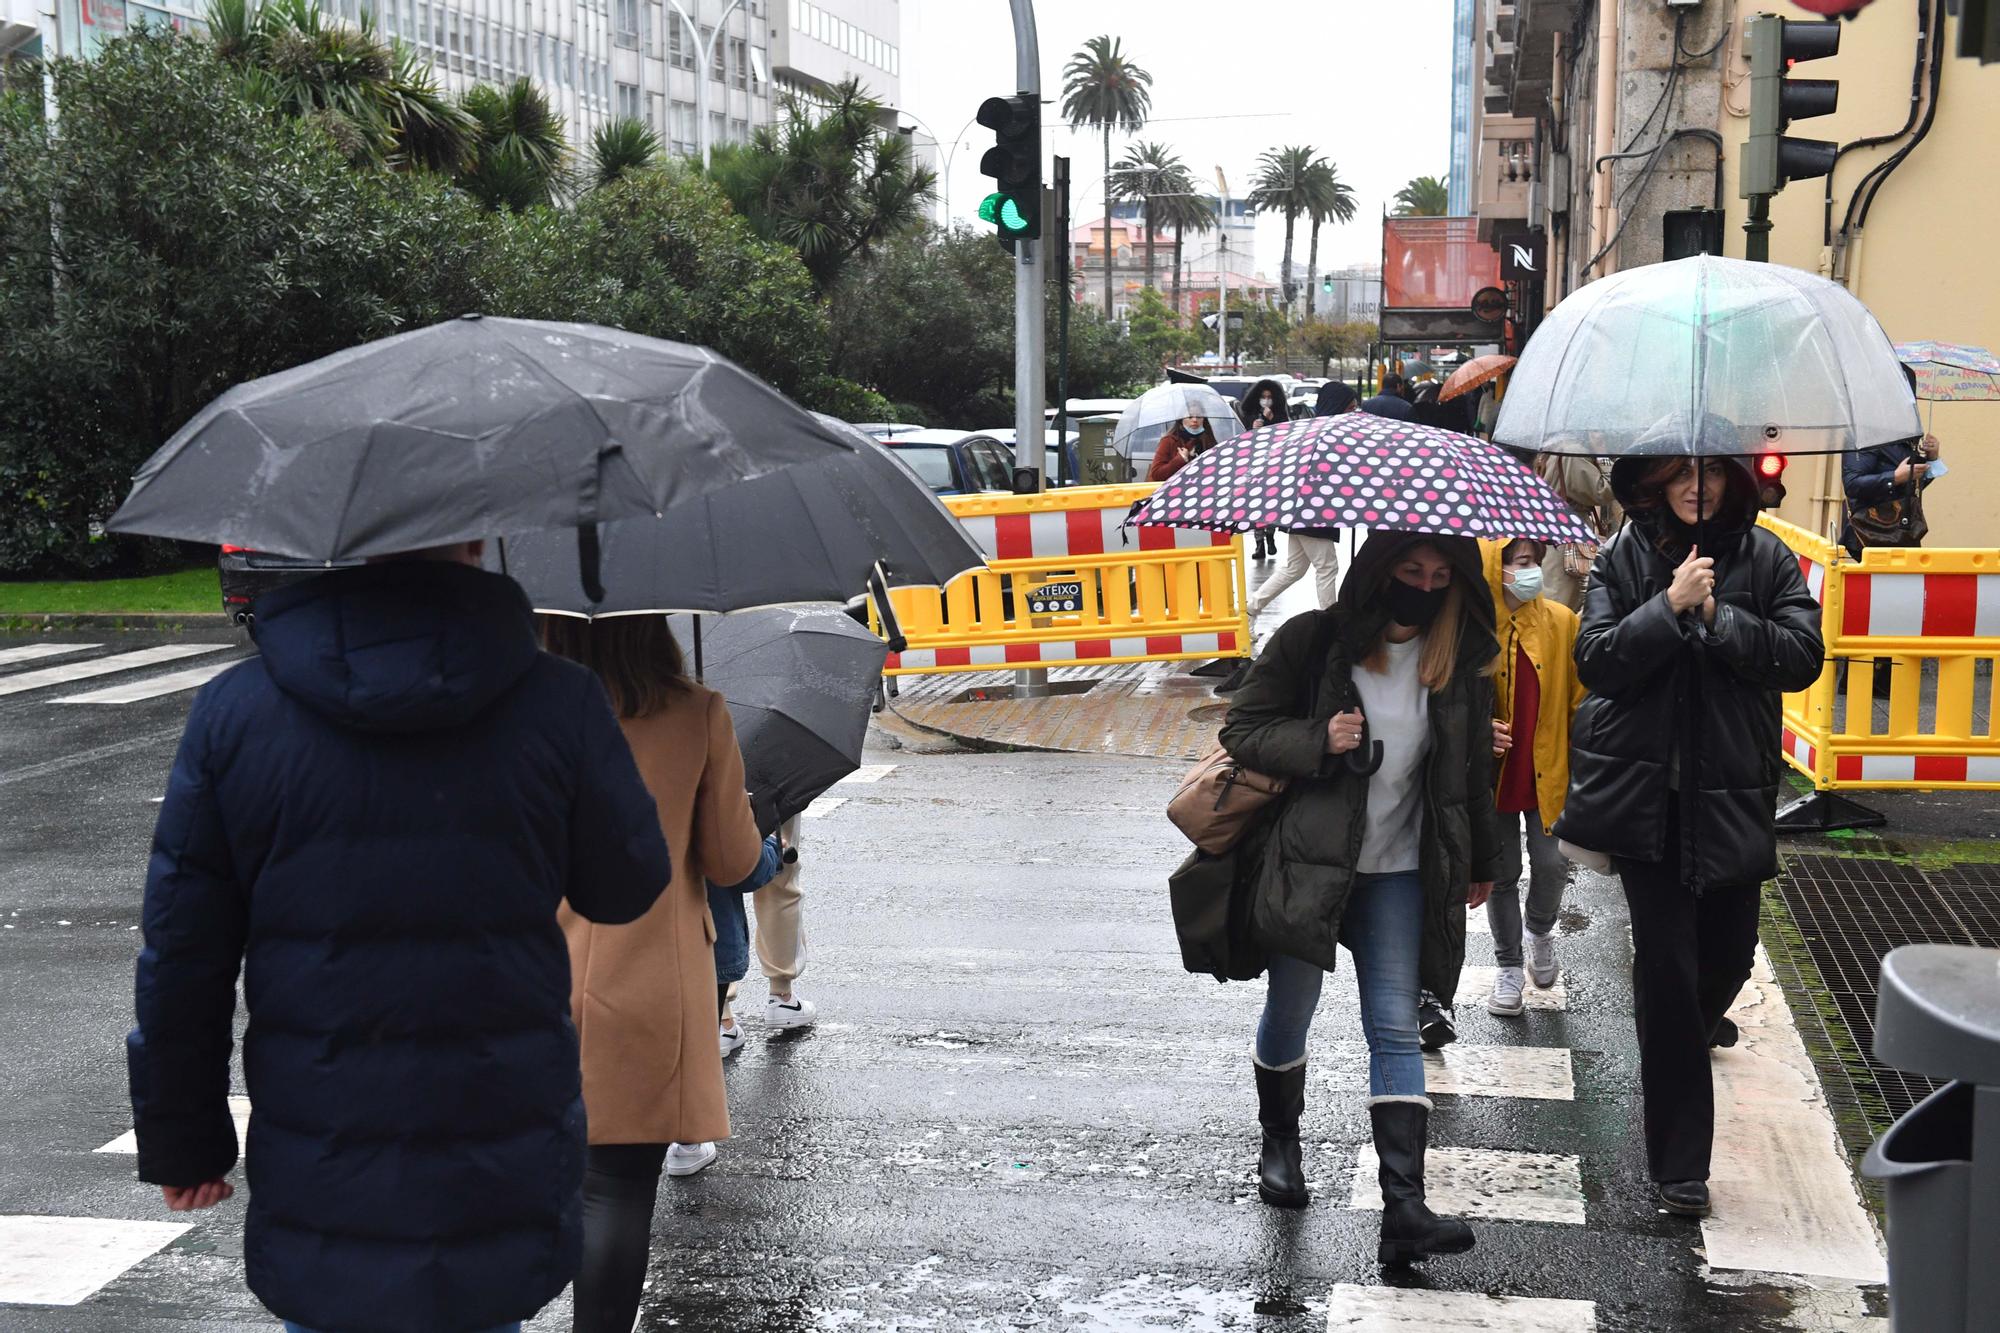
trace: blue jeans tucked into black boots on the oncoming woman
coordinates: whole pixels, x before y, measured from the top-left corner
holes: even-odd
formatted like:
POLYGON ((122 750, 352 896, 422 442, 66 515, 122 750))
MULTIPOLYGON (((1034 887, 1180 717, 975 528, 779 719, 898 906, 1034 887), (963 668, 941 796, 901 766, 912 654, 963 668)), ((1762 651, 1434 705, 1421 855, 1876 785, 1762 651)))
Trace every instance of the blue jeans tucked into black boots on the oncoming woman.
MULTIPOLYGON (((1424 941, 1424 885, 1416 871, 1356 875, 1340 943, 1354 955, 1362 1033, 1368 1037, 1368 1095, 1422 1097, 1424 1053, 1416 1039, 1416 959, 1424 941)), ((1272 955, 1256 1063, 1284 1069, 1306 1059, 1306 1031, 1320 1007, 1326 973, 1302 959, 1272 955)))

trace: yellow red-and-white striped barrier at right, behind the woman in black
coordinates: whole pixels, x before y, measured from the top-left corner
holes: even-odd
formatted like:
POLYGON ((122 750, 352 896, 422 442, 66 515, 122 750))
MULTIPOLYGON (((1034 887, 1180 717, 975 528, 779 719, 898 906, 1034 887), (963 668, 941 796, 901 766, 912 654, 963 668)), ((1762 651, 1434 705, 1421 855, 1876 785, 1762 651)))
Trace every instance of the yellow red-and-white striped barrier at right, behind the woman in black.
POLYGON ((1854 560, 1800 526, 1768 514, 1760 522, 1798 556, 1826 636, 1826 671, 1784 697, 1784 757, 1812 779, 1814 795, 1780 813, 1780 825, 1882 823, 1830 797, 1852 789, 2000 791, 2000 550, 1876 546, 1854 560), (1890 673, 1882 721, 1878 658, 1890 673))

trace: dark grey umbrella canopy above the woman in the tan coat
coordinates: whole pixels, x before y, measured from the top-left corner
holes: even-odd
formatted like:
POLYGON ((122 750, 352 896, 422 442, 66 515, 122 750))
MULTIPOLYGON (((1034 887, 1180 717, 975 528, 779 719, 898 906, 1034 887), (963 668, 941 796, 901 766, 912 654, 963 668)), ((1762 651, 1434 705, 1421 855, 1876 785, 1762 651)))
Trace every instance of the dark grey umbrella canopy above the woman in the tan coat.
POLYGON ((536 610, 588 618, 846 602, 876 564, 890 586, 944 586, 986 562, 896 450, 820 422, 850 436, 854 452, 712 490, 658 518, 602 524, 600 598, 582 588, 576 540, 562 532, 490 544, 486 568, 520 582, 536 610))

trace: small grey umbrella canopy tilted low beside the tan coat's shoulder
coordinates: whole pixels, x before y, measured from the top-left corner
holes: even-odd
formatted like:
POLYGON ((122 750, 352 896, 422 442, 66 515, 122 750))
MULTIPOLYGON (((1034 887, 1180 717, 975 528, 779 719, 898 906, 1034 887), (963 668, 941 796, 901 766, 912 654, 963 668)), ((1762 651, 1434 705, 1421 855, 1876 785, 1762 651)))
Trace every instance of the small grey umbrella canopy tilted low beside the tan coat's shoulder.
MULTIPOLYGON (((674 624, 686 636, 686 624, 674 624)), ((702 679, 736 723, 758 829, 772 833, 854 773, 888 644, 840 610, 788 606, 702 620, 702 679)))

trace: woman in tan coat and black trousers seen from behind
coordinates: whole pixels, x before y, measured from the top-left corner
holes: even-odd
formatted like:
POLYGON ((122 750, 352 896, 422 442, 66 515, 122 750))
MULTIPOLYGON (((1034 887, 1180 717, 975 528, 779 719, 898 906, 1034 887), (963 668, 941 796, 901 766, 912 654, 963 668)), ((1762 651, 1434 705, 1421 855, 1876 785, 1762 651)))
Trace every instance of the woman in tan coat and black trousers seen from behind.
POLYGON ((604 681, 674 855, 666 893, 630 925, 602 927, 568 905, 560 911, 590 1117, 574 1329, 626 1333, 646 1281, 668 1145, 730 1133, 708 881, 742 881, 764 839, 744 793, 730 711, 684 675, 664 616, 550 616, 544 642, 604 681))

